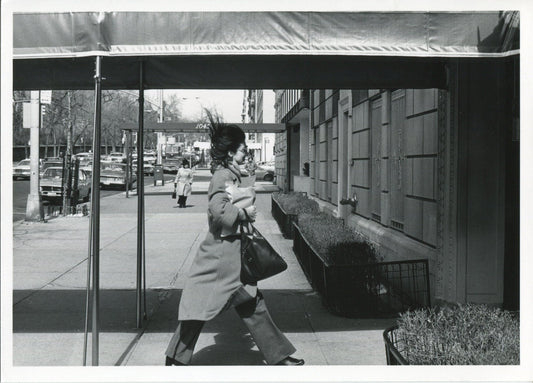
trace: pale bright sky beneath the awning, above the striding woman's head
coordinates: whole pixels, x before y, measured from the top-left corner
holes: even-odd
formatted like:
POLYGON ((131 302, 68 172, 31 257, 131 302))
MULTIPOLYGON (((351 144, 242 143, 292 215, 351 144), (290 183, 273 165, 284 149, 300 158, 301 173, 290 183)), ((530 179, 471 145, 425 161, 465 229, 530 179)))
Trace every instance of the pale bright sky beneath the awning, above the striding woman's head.
MULTIPOLYGON (((146 91, 145 97, 157 104, 158 92, 158 90, 146 91)), ((163 98, 166 100, 173 94, 182 98, 181 105, 184 118, 198 118, 202 107, 205 107, 210 110, 217 110, 225 122, 242 121, 241 113, 244 95, 244 90, 242 89, 165 89, 163 98)), ((265 90, 263 94, 263 122, 274 122, 274 92, 265 90)))

